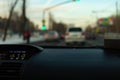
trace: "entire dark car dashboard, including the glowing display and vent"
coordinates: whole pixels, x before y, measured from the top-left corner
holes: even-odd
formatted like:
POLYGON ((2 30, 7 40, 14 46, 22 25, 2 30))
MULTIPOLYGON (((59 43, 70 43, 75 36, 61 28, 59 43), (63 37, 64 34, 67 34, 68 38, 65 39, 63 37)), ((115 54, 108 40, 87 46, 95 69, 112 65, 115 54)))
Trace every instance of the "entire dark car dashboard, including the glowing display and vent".
POLYGON ((1 80, 120 79, 119 50, 33 45, 1 45, 0 49, 1 80))

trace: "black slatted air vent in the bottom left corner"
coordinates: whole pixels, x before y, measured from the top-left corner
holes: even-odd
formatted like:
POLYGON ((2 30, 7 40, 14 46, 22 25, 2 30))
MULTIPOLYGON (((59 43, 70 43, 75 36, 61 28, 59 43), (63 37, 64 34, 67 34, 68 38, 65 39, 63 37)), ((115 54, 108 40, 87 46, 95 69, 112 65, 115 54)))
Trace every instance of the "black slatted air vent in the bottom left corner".
POLYGON ((0 64, 0 80, 20 80, 22 63, 5 62, 0 64))

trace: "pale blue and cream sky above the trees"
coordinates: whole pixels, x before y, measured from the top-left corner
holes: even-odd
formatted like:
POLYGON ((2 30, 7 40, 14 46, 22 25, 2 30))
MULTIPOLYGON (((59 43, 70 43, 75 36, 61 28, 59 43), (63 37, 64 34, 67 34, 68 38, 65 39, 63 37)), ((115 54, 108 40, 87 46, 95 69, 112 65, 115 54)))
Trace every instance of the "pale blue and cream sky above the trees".
MULTIPOLYGON (((14 1, 14 0, 11 0, 14 1)), ((39 27, 42 26, 43 9, 70 0, 27 0, 27 17, 39 27)), ((96 19, 109 17, 115 14, 115 2, 117 0, 80 0, 80 2, 70 2, 52 8, 46 12, 46 22, 48 13, 51 12, 57 22, 75 24, 76 26, 86 27, 94 25, 96 19), (96 13, 93 13, 96 11, 96 13)), ((118 0, 119 1, 119 0, 118 0)), ((21 13, 21 0, 15 10, 21 13)), ((8 6, 10 0, 0 0, 0 16, 8 16, 8 6)), ((47 23, 48 24, 48 23, 47 23)))

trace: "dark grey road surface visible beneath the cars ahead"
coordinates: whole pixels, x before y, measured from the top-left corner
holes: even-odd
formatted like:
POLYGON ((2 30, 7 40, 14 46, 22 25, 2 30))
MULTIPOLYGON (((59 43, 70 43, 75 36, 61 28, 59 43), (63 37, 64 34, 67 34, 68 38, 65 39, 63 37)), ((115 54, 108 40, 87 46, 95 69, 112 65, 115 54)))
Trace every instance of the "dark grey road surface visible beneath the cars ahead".
MULTIPOLYGON (((64 40, 60 40, 60 41, 51 41, 51 42, 36 42, 33 43, 35 45, 40 45, 40 46, 67 46, 65 44, 64 40)), ((70 45, 70 46, 79 46, 79 47, 92 47, 92 46, 104 46, 104 40, 103 39, 96 39, 96 40, 86 40, 85 41, 85 45, 78 45, 78 44, 74 44, 74 45, 70 45)))

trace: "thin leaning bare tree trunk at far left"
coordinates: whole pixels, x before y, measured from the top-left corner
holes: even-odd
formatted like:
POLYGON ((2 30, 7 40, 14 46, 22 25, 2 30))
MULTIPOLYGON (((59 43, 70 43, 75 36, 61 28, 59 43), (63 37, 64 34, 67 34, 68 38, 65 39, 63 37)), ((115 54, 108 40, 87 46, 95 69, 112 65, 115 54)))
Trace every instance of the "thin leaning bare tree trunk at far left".
POLYGON ((3 41, 6 40, 7 30, 8 30, 8 28, 9 28, 9 26, 10 26, 11 17, 12 17, 14 8, 15 8, 15 6, 17 5, 17 3, 18 3, 18 0, 15 0, 15 2, 14 2, 14 3, 11 5, 11 7, 10 7, 9 17, 8 17, 8 20, 7 20, 7 23, 6 23, 6 26, 5 26, 5 30, 4 30, 3 41))

